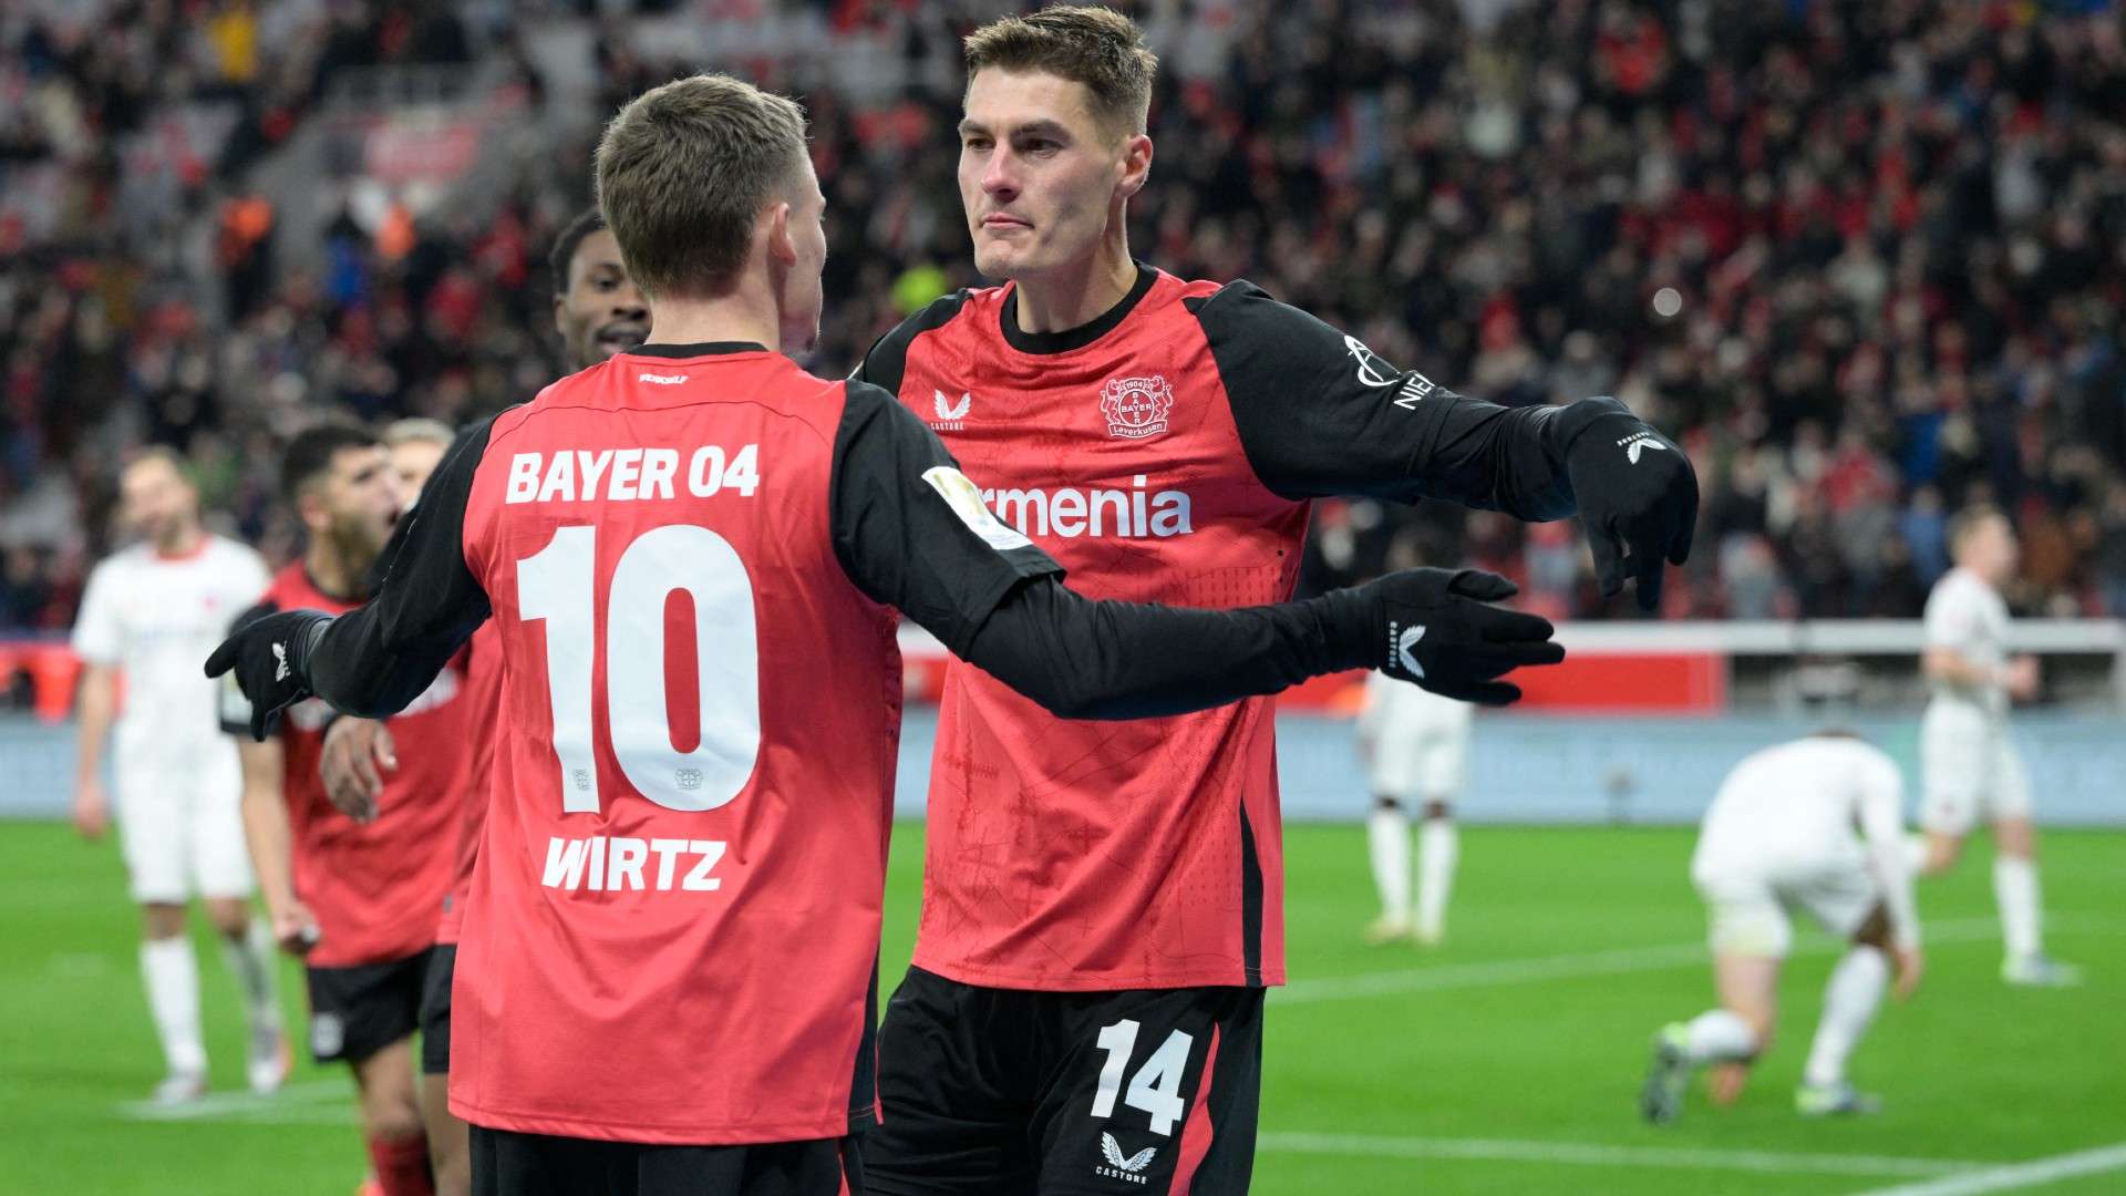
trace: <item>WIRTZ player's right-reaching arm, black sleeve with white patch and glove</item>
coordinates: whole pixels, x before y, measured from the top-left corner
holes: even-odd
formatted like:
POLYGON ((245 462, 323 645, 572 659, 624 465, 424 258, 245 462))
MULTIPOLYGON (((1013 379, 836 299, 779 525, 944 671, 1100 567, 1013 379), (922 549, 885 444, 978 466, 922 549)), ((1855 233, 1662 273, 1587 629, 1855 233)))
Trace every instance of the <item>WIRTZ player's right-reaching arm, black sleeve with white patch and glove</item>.
POLYGON ((1503 579, 1410 570, 1307 602, 1195 611, 1093 602, 982 504, 914 415, 850 383, 829 498, 842 568, 961 660, 1063 717, 1178 715, 1346 668, 1388 668, 1484 702, 1563 649, 1550 624, 1486 602, 1503 579))

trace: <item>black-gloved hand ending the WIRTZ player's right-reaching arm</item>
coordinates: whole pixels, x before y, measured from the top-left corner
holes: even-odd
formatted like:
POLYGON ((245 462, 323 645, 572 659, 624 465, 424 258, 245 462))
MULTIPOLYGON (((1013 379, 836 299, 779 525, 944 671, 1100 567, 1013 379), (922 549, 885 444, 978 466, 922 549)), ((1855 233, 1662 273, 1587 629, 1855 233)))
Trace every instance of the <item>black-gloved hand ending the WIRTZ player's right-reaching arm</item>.
POLYGON ((1488 604, 1520 592, 1497 572, 1407 568, 1359 592, 1380 619, 1376 668, 1446 698, 1503 707, 1520 698, 1520 685, 1501 675, 1565 660, 1550 619, 1488 604))

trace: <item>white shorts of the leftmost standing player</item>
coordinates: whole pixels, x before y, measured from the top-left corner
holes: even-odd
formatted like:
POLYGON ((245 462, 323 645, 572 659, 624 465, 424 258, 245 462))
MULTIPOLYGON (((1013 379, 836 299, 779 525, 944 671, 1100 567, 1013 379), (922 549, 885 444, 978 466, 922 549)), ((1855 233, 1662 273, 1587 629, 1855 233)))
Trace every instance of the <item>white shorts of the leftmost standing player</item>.
MULTIPOLYGON (((225 747, 225 745, 215 745, 225 747)), ((236 751, 206 764, 155 766, 119 758, 115 773, 119 849, 140 904, 183 904, 189 896, 251 896, 242 773, 236 751)))

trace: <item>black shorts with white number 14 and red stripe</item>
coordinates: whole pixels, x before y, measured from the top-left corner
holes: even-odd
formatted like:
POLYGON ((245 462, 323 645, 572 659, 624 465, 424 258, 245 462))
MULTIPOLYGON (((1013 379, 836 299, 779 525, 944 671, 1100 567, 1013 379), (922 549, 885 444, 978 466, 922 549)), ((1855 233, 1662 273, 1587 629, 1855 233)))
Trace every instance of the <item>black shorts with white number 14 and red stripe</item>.
POLYGON ((910 968, 878 1028, 872 1192, 1246 1192, 1263 992, 1018 992, 910 968))

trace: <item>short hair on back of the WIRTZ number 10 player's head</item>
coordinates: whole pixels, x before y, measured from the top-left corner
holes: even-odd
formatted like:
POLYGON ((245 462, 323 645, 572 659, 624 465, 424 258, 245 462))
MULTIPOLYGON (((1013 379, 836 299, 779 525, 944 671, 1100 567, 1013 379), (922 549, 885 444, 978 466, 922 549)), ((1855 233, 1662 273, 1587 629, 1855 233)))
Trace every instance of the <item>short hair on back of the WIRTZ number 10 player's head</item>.
POLYGON ((729 74, 636 96, 597 143, 597 209, 627 277, 655 298, 731 289, 753 223, 797 179, 804 109, 729 74))

